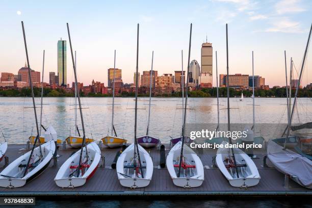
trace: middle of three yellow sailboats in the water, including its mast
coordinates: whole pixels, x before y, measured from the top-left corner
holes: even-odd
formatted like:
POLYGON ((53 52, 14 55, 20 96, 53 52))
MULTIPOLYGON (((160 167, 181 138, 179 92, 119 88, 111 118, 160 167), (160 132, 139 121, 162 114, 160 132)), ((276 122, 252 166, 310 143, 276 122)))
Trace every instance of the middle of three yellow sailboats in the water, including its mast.
MULTIPOLYGON (((76 60, 76 51, 75 51, 75 66, 76 66, 77 60, 76 60)), ((75 135, 69 136, 65 139, 66 143, 71 146, 72 148, 81 148, 83 143, 83 138, 80 135, 79 128, 77 125, 77 94, 79 94, 77 83, 75 83, 75 104, 74 104, 74 110, 75 110, 75 135), (77 134, 79 136, 77 136, 77 134)), ((86 138, 86 143, 94 142, 93 139, 86 138)))

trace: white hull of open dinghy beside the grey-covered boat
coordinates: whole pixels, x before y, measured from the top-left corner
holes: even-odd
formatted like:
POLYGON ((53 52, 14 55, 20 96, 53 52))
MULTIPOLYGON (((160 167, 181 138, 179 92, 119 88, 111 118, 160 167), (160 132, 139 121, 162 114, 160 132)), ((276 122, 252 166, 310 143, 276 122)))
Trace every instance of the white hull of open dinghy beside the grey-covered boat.
MULTIPOLYGON (((223 145, 226 142, 222 142, 223 145)), ((236 168, 228 168, 225 166, 225 162, 228 159, 229 148, 219 148, 216 155, 216 164, 224 177, 229 181, 229 184, 233 187, 252 187, 256 186, 261 177, 254 162, 249 156, 238 148, 233 148, 235 152, 235 159, 238 166, 239 177, 236 174, 236 168), (244 167, 239 167, 245 165, 244 167)))

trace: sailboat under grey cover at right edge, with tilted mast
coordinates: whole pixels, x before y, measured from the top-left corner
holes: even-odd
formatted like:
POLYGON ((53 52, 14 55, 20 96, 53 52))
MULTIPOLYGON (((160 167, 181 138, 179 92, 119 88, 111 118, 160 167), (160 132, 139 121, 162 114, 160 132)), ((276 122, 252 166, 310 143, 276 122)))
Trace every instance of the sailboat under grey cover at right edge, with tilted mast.
MULTIPOLYGON (((291 179, 293 179, 299 185, 312 189, 312 161, 302 155, 296 150, 292 149, 294 141, 296 141, 296 137, 290 136, 290 130, 292 125, 292 119, 294 116, 294 109, 297 101, 298 89, 300 86, 302 71, 304 67, 304 63, 306 61, 306 54, 308 50, 308 45, 310 41, 312 31, 312 24, 310 27, 310 32, 308 36, 308 40, 306 43, 303 61, 301 64, 301 70, 299 73, 299 80, 296 86, 294 103, 291 111, 288 111, 288 126, 287 126, 287 134, 284 138, 273 139, 268 142, 267 148, 267 157, 274 165, 274 167, 285 175, 289 175, 291 179)), ((285 55, 286 56, 286 55, 285 55)), ((285 62, 286 63, 286 62, 285 62)), ((291 65, 292 66, 292 65, 291 65)), ((287 74, 287 69, 285 67, 285 71, 287 74)), ((287 75, 286 75, 287 76, 287 75)), ((287 77, 286 77, 287 80, 287 77)), ((291 97, 289 97, 291 98, 291 97)), ((288 108, 290 107, 290 102, 288 103, 288 108)), ((298 140, 297 140, 298 141, 298 140)))

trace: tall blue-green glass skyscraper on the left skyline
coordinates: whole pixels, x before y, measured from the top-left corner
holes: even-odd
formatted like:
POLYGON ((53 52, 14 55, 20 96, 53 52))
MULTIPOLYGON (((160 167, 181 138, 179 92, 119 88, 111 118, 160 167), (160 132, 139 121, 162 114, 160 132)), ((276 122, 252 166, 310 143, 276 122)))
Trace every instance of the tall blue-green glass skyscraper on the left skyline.
POLYGON ((58 84, 67 86, 66 40, 58 41, 58 84))

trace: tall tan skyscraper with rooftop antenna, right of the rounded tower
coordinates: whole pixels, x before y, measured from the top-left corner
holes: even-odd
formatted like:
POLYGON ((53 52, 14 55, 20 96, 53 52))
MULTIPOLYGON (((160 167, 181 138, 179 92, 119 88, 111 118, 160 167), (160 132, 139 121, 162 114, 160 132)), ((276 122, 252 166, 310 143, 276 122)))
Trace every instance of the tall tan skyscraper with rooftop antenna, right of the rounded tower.
POLYGON ((212 43, 206 42, 201 45, 201 74, 200 82, 212 86, 213 76, 213 47, 212 43))

